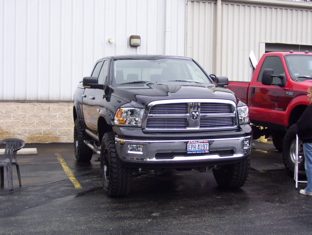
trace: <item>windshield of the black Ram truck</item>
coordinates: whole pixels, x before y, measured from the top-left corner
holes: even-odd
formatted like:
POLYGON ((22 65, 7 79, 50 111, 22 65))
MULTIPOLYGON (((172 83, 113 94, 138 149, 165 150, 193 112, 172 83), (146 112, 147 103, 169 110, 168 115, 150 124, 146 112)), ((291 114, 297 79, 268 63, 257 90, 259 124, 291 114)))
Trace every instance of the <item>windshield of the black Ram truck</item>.
POLYGON ((130 83, 204 83, 212 81, 192 60, 115 60, 114 84, 130 83))

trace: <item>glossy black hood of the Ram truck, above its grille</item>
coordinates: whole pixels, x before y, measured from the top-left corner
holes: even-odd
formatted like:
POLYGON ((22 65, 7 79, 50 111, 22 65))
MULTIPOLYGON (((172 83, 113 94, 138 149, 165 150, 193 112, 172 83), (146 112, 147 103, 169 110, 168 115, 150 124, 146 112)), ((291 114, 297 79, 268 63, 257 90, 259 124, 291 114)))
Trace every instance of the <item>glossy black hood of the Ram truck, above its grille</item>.
POLYGON ((223 87, 202 84, 129 84, 111 87, 111 95, 130 103, 134 107, 146 107, 155 100, 211 98, 232 100, 237 104, 234 93, 223 87))

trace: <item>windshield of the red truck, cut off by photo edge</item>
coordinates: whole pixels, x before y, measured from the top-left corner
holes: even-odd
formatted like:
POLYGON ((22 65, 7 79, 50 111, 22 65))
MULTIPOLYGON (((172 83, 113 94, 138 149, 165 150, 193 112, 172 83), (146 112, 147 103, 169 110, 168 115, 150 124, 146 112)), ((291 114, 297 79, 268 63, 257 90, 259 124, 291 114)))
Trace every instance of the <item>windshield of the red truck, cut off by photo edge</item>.
POLYGON ((312 56, 287 55, 285 61, 292 79, 312 79, 312 56))

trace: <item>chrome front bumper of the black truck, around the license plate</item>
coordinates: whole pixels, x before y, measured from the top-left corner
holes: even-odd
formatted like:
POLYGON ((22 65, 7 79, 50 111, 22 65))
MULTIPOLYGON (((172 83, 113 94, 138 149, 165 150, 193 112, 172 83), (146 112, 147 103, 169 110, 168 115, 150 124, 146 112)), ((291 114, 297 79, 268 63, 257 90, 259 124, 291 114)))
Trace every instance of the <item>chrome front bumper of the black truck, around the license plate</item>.
MULTIPOLYGON (((219 162, 235 161, 246 158, 250 155, 252 137, 236 137, 223 139, 204 139, 209 141, 209 153, 187 154, 187 143, 190 140, 126 140, 115 137, 115 144, 119 158, 124 163, 132 164, 179 164, 179 163, 200 163, 216 165, 219 162), (249 141, 248 148, 243 148, 243 142, 249 141), (129 151, 129 144, 142 145, 142 151, 129 151), (226 155, 218 154, 228 153, 226 155), (163 155, 171 154, 170 158, 163 158, 163 155), (158 157, 157 157, 158 156, 158 157)), ((201 139, 203 140, 203 139, 201 139)))

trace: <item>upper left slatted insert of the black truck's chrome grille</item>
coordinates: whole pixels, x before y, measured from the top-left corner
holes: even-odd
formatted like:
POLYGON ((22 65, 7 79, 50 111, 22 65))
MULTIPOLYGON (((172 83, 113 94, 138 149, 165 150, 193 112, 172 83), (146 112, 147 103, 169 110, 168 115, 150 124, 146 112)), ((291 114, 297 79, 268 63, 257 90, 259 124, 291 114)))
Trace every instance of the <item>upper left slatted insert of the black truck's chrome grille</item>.
POLYGON ((187 114, 188 103, 154 105, 149 114, 187 114))

